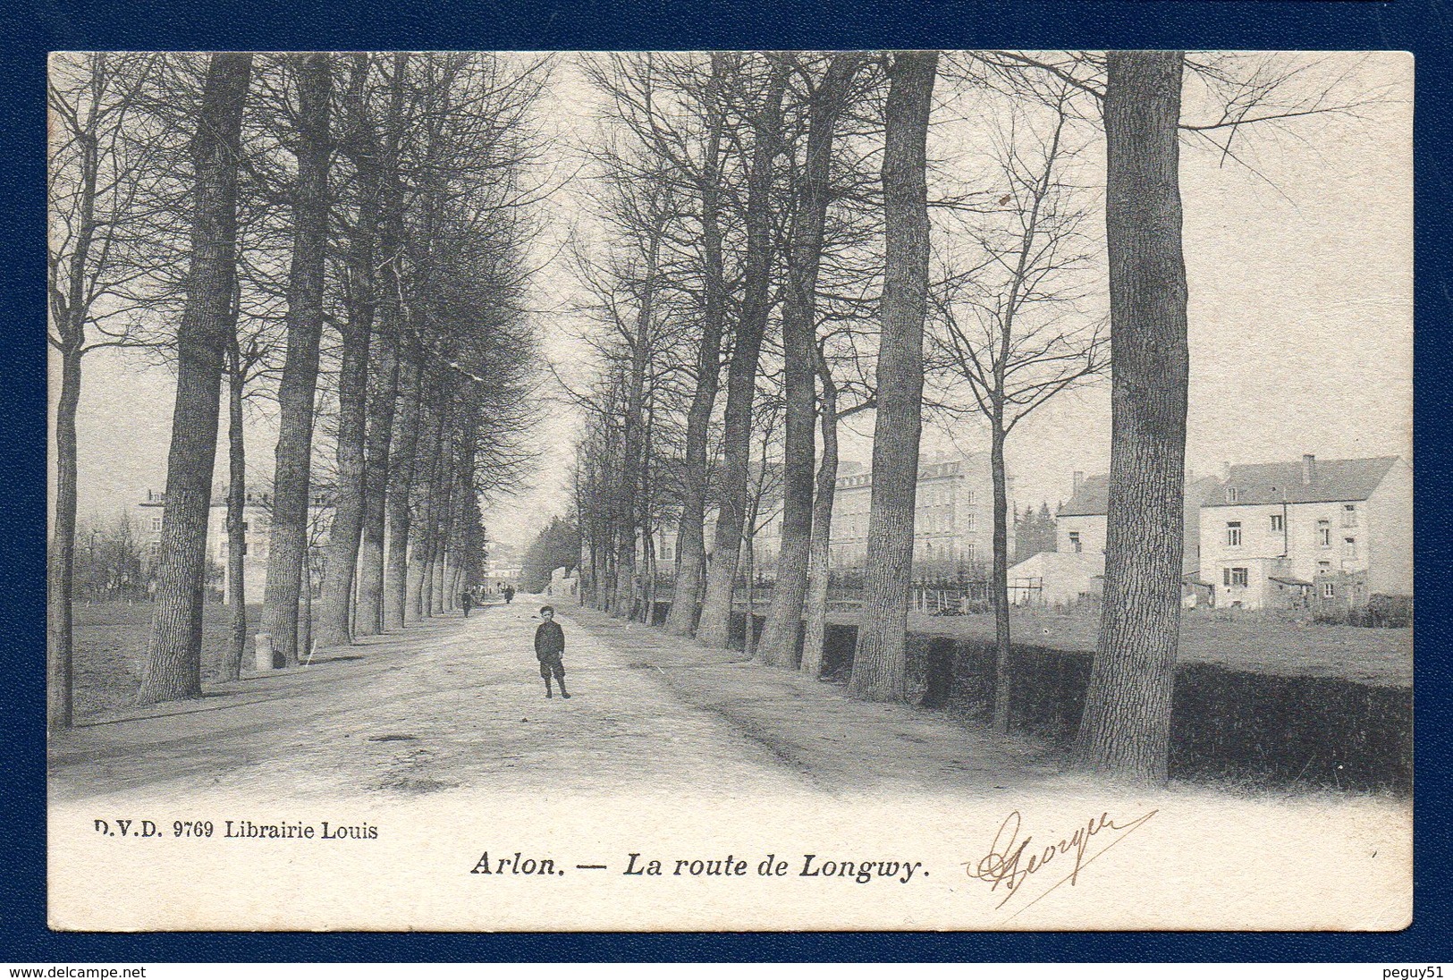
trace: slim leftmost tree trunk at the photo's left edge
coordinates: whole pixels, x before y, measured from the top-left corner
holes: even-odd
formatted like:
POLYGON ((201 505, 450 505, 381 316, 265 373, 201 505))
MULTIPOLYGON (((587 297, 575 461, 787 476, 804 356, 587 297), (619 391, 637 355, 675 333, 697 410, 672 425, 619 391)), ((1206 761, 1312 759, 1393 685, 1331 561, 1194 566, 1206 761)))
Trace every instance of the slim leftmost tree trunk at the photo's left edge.
POLYGON ((68 728, 73 721, 71 603, 76 582, 76 410, 80 397, 81 345, 77 337, 61 352, 61 394, 55 407, 55 526, 51 529, 51 595, 46 605, 46 717, 51 728, 68 728))

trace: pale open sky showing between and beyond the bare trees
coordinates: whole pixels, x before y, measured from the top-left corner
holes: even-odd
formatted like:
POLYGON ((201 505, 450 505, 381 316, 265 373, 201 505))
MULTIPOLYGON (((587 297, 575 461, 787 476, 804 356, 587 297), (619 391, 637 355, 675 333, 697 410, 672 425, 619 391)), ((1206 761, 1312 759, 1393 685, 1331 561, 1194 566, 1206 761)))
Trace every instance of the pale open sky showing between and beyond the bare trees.
MULTIPOLYGON (((1383 93, 1359 118, 1318 116, 1289 134, 1268 134, 1248 147, 1254 170, 1222 164, 1205 148, 1181 150, 1187 467, 1197 473, 1303 452, 1411 459, 1412 60, 1344 57, 1357 63, 1353 83, 1383 93)), ((940 100, 939 111, 955 109, 940 100)), ((584 135, 590 115, 578 73, 567 63, 542 106, 546 131, 584 135)), ((549 163, 554 173, 571 173, 565 156, 549 163)), ((581 356, 572 336, 578 326, 564 311, 572 288, 558 243, 571 233, 588 188, 567 180, 556 193, 542 212, 543 268, 532 308, 545 355, 570 371, 581 356)), ((54 398, 54 364, 51 371, 54 398)), ((83 521, 110 518, 164 486, 173 394, 166 368, 125 352, 87 356, 78 417, 83 521)), ((559 404, 546 409, 530 486, 485 507, 491 537, 514 547, 568 502, 577 419, 559 404)), ((843 457, 867 462, 872 416, 859 416, 851 429, 843 457)), ((253 468, 266 473, 275 432, 262 413, 253 413, 248 441, 253 468)), ((931 425, 923 451, 978 452, 987 445, 972 423, 931 425)), ((1107 471, 1109 445, 1107 384, 1059 395, 1008 443, 1017 502, 1053 507, 1069 496, 1074 471, 1107 471)), ((219 480, 221 464, 225 452, 219 480)))

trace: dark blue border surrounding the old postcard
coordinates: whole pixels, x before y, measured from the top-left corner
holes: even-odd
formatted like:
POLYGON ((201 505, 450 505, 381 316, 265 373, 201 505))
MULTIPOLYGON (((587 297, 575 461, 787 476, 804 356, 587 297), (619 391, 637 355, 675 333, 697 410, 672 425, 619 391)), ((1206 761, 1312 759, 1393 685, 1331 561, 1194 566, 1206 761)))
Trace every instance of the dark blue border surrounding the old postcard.
MULTIPOLYGON (((0 961, 485 960, 1251 960, 1449 961, 1449 12, 1438 0, 413 0, 218 4, 35 3, 0 10, 0 961), (45 928, 45 172, 48 49, 90 48, 1396 48, 1418 57, 1417 106, 1417 861, 1415 923, 1393 935, 74 935, 45 928)), ((1296 406, 1289 404, 1289 411, 1296 406)), ((1258 859, 1248 842, 1247 859, 1258 859)), ((1261 887, 1276 896, 1280 883, 1261 887)))

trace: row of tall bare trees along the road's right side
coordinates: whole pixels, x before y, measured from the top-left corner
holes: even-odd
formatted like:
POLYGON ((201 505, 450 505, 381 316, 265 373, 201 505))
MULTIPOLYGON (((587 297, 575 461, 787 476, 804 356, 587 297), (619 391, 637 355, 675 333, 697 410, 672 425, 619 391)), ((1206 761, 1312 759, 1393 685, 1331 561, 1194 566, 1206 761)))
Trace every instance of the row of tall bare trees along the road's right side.
POLYGON ((1252 124, 1345 108, 1302 84, 1303 68, 1174 51, 587 58, 604 106, 587 142, 609 243, 577 260, 599 326, 594 384, 572 388, 587 419, 575 467, 587 601, 649 615, 655 542, 674 528, 665 630, 725 644, 758 505, 777 484, 782 545, 754 653, 815 675, 838 426, 870 411, 849 691, 899 699, 923 419, 974 420, 994 473, 1005 728, 1005 443, 1107 371, 1104 614, 1075 755, 1162 781, 1189 378, 1181 144, 1237 158, 1252 124))

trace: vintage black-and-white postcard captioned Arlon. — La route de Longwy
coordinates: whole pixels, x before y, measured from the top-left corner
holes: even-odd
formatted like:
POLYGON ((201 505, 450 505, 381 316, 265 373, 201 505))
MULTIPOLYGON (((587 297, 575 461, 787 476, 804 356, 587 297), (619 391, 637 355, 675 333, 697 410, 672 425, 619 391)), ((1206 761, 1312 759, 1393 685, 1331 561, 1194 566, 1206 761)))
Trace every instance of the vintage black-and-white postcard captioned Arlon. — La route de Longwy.
POLYGON ((54 54, 51 928, 1405 928, 1412 68, 54 54))

